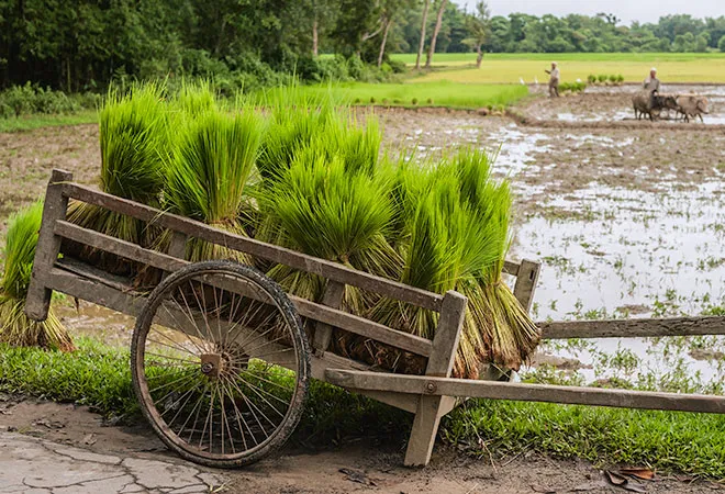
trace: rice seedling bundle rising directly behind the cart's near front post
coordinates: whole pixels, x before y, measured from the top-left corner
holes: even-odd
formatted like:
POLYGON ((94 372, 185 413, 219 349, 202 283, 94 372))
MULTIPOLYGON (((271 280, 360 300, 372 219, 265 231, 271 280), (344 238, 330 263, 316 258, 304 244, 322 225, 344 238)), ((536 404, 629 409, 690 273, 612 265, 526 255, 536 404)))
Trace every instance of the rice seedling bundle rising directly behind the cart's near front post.
MULTIPOLYGON (((401 187, 414 187, 403 198, 420 198, 411 209, 410 199, 398 204, 400 215, 406 217, 408 235, 402 238, 401 251, 404 267, 400 281, 436 293, 449 290, 465 292, 477 303, 479 293, 469 287, 477 287, 479 272, 490 268, 498 256, 497 229, 488 223, 477 222, 473 211, 464 200, 458 177, 450 165, 443 165, 433 172, 406 169, 401 187), (417 195, 414 195, 417 194, 417 195)), ((400 240, 399 240, 400 242, 400 240)), ((371 317, 390 327, 432 339, 438 322, 438 314, 388 299, 381 300, 371 311, 371 317)), ((488 357, 486 341, 479 330, 472 311, 469 311, 464 325, 455 373, 460 377, 476 377, 482 361, 488 357)), ((365 343, 365 351, 375 363, 404 372, 422 372, 424 361, 410 355, 391 351, 381 345, 365 343)))

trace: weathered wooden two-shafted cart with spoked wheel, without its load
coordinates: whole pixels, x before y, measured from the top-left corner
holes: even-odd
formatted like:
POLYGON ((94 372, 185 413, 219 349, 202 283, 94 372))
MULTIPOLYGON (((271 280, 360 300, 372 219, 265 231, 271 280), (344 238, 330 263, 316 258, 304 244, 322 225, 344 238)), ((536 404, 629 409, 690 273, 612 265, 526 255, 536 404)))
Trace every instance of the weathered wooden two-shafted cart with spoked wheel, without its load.
MULTIPOLYGON (((451 379, 467 299, 431 293, 335 262, 234 235, 186 217, 72 183, 54 170, 27 295, 26 313, 47 316, 58 291, 136 317, 131 346, 134 391, 142 412, 164 442, 182 457, 212 467, 254 462, 291 435, 303 411, 311 378, 344 386, 415 414, 405 464, 431 459, 440 417, 457 397, 581 403, 642 408, 725 412, 725 397, 598 390, 451 379), (169 254, 82 228, 66 221, 68 200, 93 204, 171 232, 169 254), (289 266, 326 280, 322 303, 295 297, 247 266, 185 260, 192 239, 225 246, 255 259, 289 266), (64 239, 161 270, 150 292, 129 279, 77 260, 59 258, 64 239), (346 287, 439 313, 433 340, 399 332, 339 310, 346 287), (311 328, 308 341, 302 319, 311 328), (334 330, 357 335, 426 361, 424 375, 376 371, 331 351, 334 330)), ((529 307, 539 266, 506 262, 514 294, 529 307)), ((723 318, 554 323, 548 337, 723 334, 723 318), (703 322, 705 321, 705 322, 703 322), (637 333, 637 327, 640 330, 637 333), (642 329, 645 327, 646 329, 642 329), (661 329, 665 328, 665 329, 661 329)))

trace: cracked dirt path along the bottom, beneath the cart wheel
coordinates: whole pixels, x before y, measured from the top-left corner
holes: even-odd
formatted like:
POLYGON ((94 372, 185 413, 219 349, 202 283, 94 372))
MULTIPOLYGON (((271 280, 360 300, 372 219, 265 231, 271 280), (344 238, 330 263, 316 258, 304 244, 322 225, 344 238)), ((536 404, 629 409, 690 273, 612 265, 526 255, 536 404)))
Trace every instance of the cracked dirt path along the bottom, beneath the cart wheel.
MULTIPOLYGON (((533 453, 492 461, 443 445, 425 469, 403 468, 402 458, 395 445, 345 445, 312 453, 288 448, 256 465, 219 471, 177 458, 143 424, 119 427, 86 407, 0 395, 0 493, 625 492, 585 461, 533 453)), ((642 485, 648 493, 725 491, 677 478, 642 485)))

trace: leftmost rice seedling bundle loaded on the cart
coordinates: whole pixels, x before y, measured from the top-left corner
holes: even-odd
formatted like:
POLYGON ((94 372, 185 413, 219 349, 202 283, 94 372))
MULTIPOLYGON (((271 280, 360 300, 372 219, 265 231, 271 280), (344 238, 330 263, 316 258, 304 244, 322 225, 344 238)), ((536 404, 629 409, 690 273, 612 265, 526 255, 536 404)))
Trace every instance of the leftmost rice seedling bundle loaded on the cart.
MULTIPOLYGON (((149 205, 157 205, 165 180, 169 153, 169 126, 155 85, 134 86, 130 94, 113 89, 100 111, 101 171, 103 192, 149 205)), ((71 203, 69 221, 140 245, 157 235, 135 218, 86 203, 71 203)), ((131 265, 112 255, 66 245, 64 251, 118 273, 129 273, 131 265)))

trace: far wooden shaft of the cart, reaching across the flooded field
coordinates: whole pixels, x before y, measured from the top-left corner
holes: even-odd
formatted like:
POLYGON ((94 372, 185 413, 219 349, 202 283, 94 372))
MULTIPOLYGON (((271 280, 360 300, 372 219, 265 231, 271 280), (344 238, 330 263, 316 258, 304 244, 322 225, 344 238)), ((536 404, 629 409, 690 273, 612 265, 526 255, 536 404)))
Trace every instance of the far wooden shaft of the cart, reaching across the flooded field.
POLYGON ((543 339, 725 335, 725 316, 536 323, 543 339))

